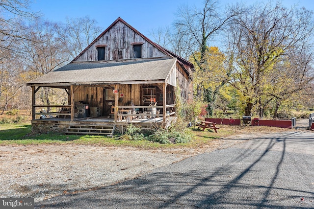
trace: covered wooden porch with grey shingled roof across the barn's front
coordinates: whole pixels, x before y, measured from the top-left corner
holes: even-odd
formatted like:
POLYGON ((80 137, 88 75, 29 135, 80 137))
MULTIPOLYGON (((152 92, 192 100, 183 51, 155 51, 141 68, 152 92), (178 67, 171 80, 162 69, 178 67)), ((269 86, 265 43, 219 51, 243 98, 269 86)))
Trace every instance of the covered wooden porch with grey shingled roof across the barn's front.
POLYGON ((66 132, 75 128, 70 124, 77 129, 83 129, 79 124, 84 129, 129 123, 167 127, 168 118, 175 116, 176 96, 187 100, 192 89, 182 67, 176 58, 158 58, 73 62, 53 70, 27 83, 32 88, 33 130, 66 132), (178 87, 181 95, 176 95, 178 87), (47 99, 51 92, 63 95, 62 100, 47 99))

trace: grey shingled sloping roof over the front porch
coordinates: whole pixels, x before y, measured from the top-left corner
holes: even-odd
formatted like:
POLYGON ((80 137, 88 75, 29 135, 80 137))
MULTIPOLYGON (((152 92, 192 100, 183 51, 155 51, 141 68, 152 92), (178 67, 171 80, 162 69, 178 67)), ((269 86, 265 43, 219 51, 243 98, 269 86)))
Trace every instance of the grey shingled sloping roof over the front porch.
POLYGON ((27 86, 165 83, 177 58, 71 62, 27 83, 27 86))

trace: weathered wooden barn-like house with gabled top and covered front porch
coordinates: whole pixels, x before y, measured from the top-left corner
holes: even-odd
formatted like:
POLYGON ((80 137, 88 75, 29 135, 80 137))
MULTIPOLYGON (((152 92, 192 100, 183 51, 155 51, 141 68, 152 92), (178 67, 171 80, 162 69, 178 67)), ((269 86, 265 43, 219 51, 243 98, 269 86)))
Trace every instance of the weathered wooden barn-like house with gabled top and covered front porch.
POLYGON ((176 88, 183 99, 192 96, 192 71, 190 62, 118 18, 68 65, 27 83, 32 128, 107 134, 109 126, 130 122, 165 125, 175 116, 176 88), (36 104, 41 87, 65 89, 68 104, 36 104))

